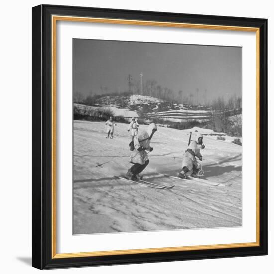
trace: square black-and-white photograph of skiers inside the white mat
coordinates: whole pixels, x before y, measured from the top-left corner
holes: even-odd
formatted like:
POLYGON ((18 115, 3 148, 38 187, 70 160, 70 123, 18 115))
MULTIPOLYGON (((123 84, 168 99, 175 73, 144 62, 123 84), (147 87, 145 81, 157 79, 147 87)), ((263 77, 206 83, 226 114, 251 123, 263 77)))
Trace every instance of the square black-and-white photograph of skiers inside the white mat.
POLYGON ((73 234, 242 226, 242 48, 73 39, 73 234))

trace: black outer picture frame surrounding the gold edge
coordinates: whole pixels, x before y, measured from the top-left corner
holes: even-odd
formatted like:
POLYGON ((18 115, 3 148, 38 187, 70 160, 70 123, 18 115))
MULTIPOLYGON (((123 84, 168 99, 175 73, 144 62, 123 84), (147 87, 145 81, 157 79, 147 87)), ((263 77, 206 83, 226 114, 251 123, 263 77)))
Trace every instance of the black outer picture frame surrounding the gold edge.
POLYGON ((32 266, 72 268, 267 255, 267 19, 39 5, 32 8, 32 266), (92 257, 52 258, 51 16, 98 17, 202 25, 254 27, 260 33, 258 246, 92 257))

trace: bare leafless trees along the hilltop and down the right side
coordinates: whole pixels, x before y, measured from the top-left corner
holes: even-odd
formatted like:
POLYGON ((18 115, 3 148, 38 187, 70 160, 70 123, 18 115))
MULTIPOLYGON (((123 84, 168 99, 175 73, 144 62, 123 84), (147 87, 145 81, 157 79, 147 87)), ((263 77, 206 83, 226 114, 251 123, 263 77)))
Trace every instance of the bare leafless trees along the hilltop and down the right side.
POLYGON ((143 94, 147 96, 156 97, 170 104, 183 104, 183 105, 203 105, 212 109, 212 119, 210 127, 215 131, 233 133, 234 135, 241 136, 242 132, 242 98, 241 96, 232 95, 228 99, 220 96, 214 100, 207 99, 207 90, 200 90, 196 88, 195 91, 185 93, 182 90, 177 92, 170 88, 162 87, 156 80, 146 80, 140 85, 140 81, 135 81, 132 77, 127 78, 128 89, 124 91, 109 92, 106 87, 100 87, 100 94, 90 92, 84 96, 80 92, 74 92, 74 103, 85 104, 89 106, 95 105, 101 97, 105 96, 119 96, 118 101, 123 105, 123 96, 132 94, 143 94))

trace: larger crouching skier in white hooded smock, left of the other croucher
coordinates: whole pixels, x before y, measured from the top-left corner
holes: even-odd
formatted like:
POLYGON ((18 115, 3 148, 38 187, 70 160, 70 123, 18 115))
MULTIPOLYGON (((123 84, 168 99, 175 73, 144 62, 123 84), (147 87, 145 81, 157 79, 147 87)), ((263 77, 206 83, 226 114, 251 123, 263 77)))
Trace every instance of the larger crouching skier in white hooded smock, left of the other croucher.
POLYGON ((147 131, 139 132, 133 139, 134 150, 131 153, 129 162, 133 166, 128 170, 125 178, 128 180, 142 179, 140 173, 146 168, 149 163, 146 150, 153 151, 150 146, 150 141, 153 134, 157 131, 155 123, 151 123, 147 127, 147 131))

